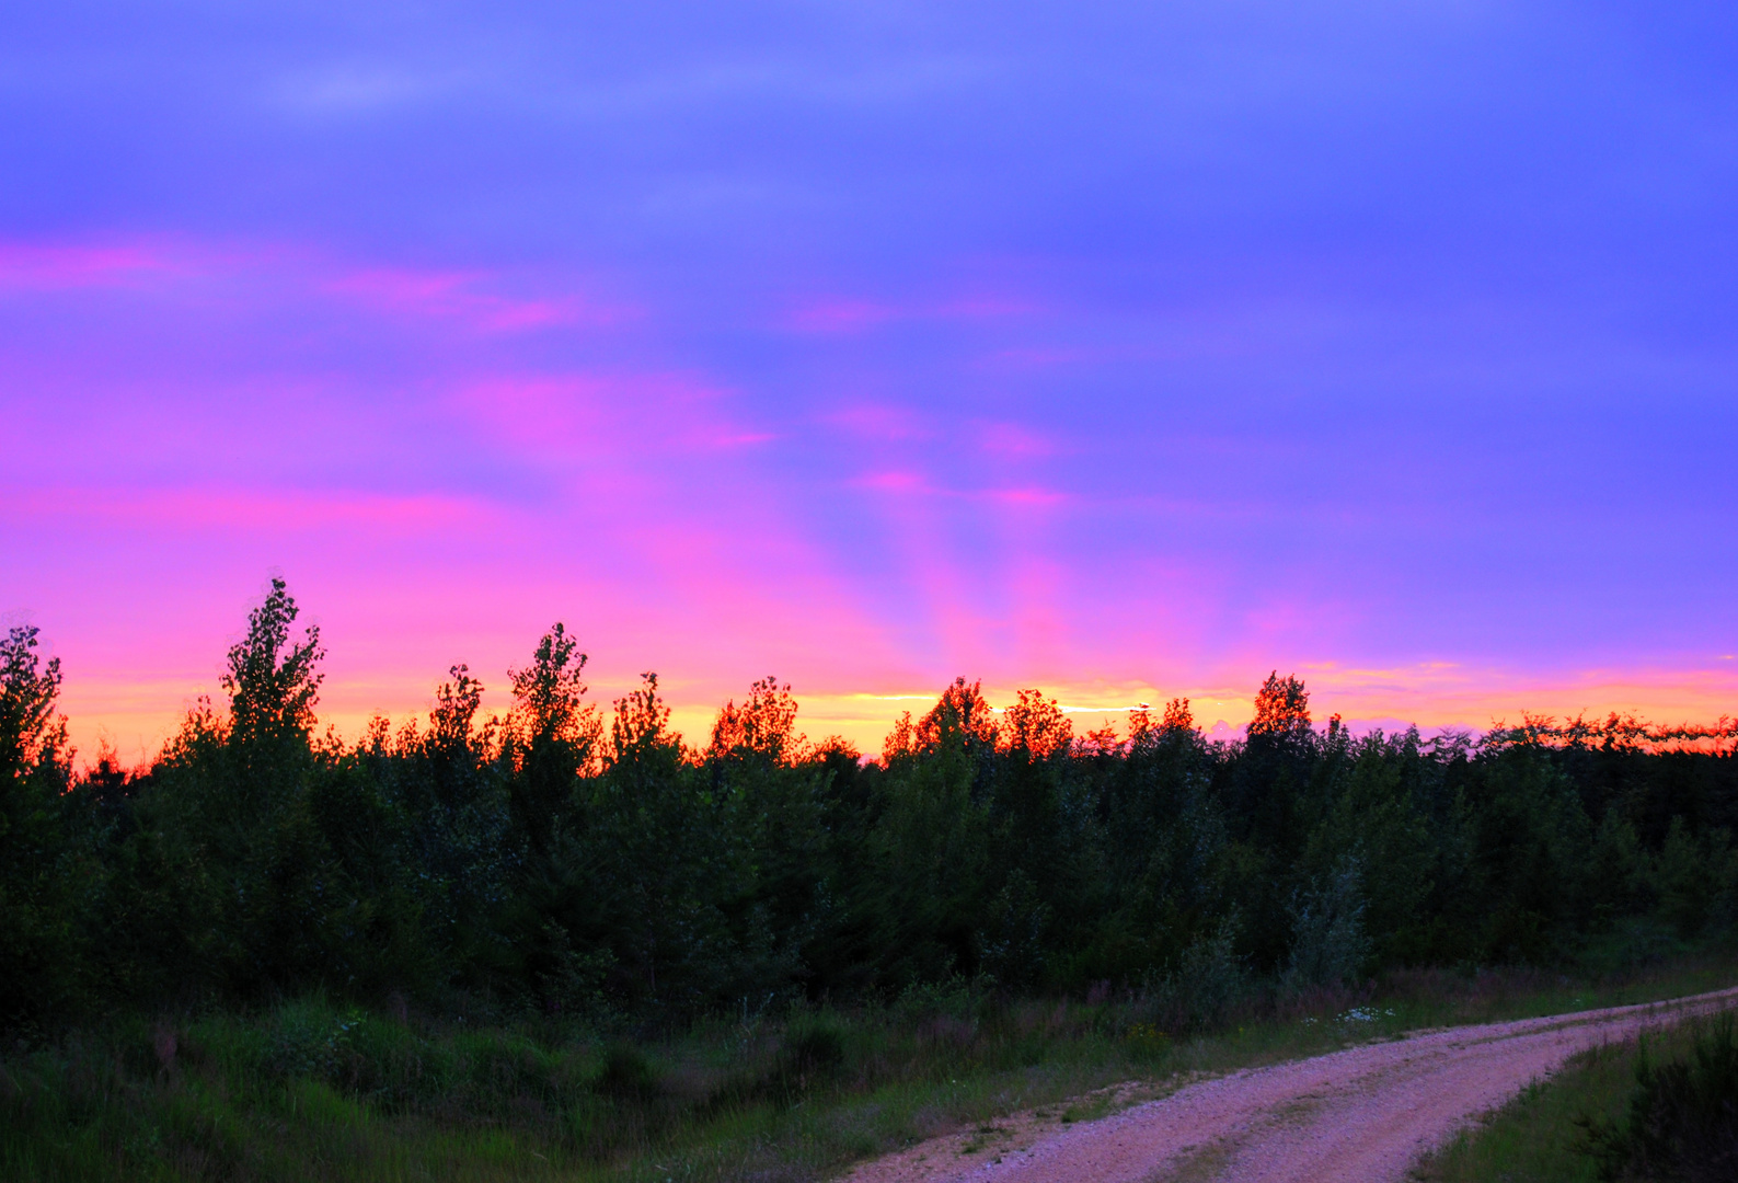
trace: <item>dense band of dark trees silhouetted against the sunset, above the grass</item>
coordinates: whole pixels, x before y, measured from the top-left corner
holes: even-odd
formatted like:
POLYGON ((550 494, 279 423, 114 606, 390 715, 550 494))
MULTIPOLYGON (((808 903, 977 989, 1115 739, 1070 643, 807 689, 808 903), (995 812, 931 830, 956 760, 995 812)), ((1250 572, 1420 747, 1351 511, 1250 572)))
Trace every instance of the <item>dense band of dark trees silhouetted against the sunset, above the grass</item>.
POLYGON ((1197 1009, 1236 981, 1646 961, 1733 929, 1733 724, 1316 726, 1269 677, 1241 742, 1187 700, 1076 735, 965 679, 878 761, 810 742, 768 677, 704 749, 657 677, 605 712, 560 624, 483 717, 322 733, 318 631, 282 580, 137 771, 75 773, 57 662, 0 650, 0 1021, 323 992, 667 1023, 970 980, 1197 1009))

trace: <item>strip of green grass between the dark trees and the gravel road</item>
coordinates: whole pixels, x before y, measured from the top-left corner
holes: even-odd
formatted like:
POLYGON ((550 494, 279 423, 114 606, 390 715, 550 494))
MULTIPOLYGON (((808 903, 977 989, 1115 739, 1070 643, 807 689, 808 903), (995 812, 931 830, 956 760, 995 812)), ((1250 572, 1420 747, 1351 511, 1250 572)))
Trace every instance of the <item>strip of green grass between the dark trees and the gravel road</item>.
POLYGON ((975 1129, 992 1152, 998 1119, 1020 1110, 1090 1120, 1203 1074, 1735 980, 1729 959, 1599 983, 1408 973, 1359 992, 1251 992, 1213 1032, 1177 1030, 1149 997, 1008 1001, 966 983, 638 1042, 580 1023, 469 1030, 320 999, 115 1020, 5 1051, 0 1178, 794 1183, 949 1131, 975 1129), (1128 1081, 1147 1084, 1107 1091, 1128 1081))

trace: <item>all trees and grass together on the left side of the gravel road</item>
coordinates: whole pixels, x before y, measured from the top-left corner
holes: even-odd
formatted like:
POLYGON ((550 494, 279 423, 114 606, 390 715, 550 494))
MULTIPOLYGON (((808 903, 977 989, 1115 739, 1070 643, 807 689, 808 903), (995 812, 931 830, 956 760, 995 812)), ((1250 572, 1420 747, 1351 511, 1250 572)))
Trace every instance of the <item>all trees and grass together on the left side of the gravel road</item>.
POLYGON ((276 582, 226 702, 76 775, 57 662, 0 643, 5 1178, 813 1178, 1733 981, 1728 721, 1352 737, 1276 674, 1215 744, 959 679, 866 763, 772 677, 704 747, 653 674, 601 712, 554 625, 504 716, 454 665, 348 744, 295 620, 276 582))

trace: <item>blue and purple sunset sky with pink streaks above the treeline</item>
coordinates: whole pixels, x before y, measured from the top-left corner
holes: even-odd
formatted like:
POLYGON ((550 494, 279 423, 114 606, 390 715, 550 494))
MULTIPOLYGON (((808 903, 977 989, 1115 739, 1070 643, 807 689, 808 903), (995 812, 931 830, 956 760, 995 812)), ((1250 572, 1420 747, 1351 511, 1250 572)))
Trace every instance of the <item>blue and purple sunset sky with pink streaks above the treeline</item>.
POLYGON ((0 622, 148 759, 561 620, 690 738, 1738 714, 1738 9, 80 3, 0 38, 0 622))

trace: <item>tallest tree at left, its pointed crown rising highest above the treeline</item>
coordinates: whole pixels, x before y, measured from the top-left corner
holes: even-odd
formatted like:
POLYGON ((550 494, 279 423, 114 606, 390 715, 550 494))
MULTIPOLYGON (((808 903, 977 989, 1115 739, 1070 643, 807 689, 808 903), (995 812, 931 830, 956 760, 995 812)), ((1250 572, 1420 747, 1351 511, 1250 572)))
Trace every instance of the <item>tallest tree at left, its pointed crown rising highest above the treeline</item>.
POLYGON ((295 617, 273 580, 229 650, 228 716, 195 707, 141 789, 134 856, 118 860, 139 881, 111 884, 111 919, 153 924, 132 950, 174 964, 122 966, 123 980, 250 995, 355 976, 360 900, 311 796, 332 763, 309 738, 320 634, 292 643, 295 617))

